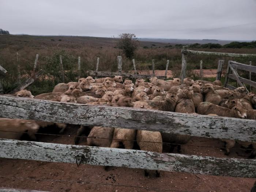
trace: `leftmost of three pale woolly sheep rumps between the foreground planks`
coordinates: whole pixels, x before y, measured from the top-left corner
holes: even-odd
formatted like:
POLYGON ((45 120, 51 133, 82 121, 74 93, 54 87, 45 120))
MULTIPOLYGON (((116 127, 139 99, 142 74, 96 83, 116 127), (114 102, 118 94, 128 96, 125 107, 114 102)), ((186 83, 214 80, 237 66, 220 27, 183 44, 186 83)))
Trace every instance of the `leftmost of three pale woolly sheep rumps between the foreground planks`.
POLYGON ((87 138, 88 146, 110 147, 112 143, 114 128, 94 126, 87 138), (104 138, 104 139, 103 139, 104 138))

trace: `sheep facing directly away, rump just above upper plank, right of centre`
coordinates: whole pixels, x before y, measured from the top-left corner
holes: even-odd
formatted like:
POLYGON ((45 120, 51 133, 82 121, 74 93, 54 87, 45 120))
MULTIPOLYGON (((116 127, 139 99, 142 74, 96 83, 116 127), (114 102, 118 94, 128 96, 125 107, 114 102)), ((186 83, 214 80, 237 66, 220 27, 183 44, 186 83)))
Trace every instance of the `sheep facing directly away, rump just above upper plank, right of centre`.
POLYGON ((178 102, 174 112, 177 113, 195 113, 195 106, 193 104, 193 90, 180 89, 177 93, 178 102))

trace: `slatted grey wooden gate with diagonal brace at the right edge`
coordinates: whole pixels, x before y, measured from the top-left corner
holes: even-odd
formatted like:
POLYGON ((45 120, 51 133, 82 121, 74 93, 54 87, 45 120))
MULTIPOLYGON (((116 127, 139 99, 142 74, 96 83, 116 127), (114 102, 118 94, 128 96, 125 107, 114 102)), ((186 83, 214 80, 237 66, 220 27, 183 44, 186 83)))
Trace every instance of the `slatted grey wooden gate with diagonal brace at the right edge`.
MULTIPOLYGON (((252 65, 246 65, 246 64, 242 64, 242 63, 237 63, 236 61, 229 61, 227 64, 227 75, 226 75, 226 79, 224 82, 224 87, 227 87, 231 90, 236 89, 236 87, 231 86, 229 83, 229 79, 234 79, 237 81, 237 83, 239 84, 239 86, 244 86, 247 93, 249 93, 249 91, 247 90, 245 84, 248 84, 253 87, 256 88, 256 82, 249 80, 249 79, 245 79, 245 78, 241 78, 236 69, 240 69, 243 71, 248 71, 250 72, 250 74, 256 73, 256 66, 252 66, 252 65)), ((251 76, 249 76, 249 78, 251 78, 251 76)))

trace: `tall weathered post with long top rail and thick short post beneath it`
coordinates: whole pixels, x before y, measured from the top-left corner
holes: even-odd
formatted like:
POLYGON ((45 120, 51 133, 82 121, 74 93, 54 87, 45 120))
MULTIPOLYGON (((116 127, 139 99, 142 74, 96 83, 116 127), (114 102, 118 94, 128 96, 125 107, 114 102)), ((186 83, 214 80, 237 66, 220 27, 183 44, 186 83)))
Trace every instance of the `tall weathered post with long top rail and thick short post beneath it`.
MULTIPOLYGON (((220 53, 220 52, 207 52, 207 51, 196 51, 196 50, 188 50, 188 46, 183 46, 181 49, 182 53, 182 61, 181 61, 181 73, 180 78, 183 83, 183 79, 186 78, 186 69, 187 69, 187 60, 188 54, 198 54, 198 55, 206 55, 206 56, 222 56, 222 57, 256 57, 256 54, 239 54, 239 53, 220 53)), ((220 80, 222 72, 223 62, 218 63, 218 71, 217 71, 217 80, 220 80)))

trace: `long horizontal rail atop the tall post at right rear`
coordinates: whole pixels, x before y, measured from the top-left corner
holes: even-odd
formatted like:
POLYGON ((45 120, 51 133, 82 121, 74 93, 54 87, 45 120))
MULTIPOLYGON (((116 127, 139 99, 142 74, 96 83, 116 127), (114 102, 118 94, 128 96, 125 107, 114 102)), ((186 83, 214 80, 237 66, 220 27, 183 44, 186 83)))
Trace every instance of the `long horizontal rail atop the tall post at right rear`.
POLYGON ((220 52, 196 51, 196 50, 186 50, 186 49, 182 49, 181 53, 199 54, 199 55, 208 55, 208 56, 224 56, 224 57, 256 57, 256 54, 220 53, 220 52))

